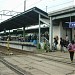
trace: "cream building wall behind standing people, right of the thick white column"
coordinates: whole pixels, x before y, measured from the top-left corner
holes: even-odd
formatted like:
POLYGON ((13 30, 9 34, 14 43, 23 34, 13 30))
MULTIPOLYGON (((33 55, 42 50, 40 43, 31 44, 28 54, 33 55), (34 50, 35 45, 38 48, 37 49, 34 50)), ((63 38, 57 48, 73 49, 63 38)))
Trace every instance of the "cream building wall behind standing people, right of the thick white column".
MULTIPOLYGON (((75 30, 73 30, 73 32, 72 32, 73 37, 74 37, 74 32, 75 32, 75 30)), ((67 30, 66 30, 66 28, 63 28, 62 22, 60 22, 59 25, 57 25, 57 26, 53 26, 53 38, 55 36, 58 36, 58 38, 59 38, 58 50, 60 50, 60 38, 62 37, 63 39, 66 39, 66 33, 70 40, 71 39, 71 30, 69 28, 67 28, 67 30)))

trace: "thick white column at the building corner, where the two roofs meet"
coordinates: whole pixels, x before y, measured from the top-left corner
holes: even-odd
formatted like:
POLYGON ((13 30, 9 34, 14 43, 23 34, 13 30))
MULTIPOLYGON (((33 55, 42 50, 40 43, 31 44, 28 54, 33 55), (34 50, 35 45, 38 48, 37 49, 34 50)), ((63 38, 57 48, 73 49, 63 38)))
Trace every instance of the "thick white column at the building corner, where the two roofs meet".
POLYGON ((50 17, 50 25, 49 25, 49 43, 50 43, 50 50, 52 50, 52 43, 53 43, 52 17, 50 17))

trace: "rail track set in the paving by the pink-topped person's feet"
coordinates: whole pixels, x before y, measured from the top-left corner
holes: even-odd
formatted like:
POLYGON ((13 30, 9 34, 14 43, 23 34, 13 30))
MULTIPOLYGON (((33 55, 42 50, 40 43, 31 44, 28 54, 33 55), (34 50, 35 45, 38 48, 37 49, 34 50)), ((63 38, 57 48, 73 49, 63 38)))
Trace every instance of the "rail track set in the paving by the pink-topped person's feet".
POLYGON ((47 59, 50 61, 55 61, 55 62, 71 65, 71 66, 75 67, 75 59, 74 59, 74 63, 71 63, 70 61, 69 62, 66 61, 66 60, 70 60, 70 58, 64 58, 64 57, 59 57, 59 56, 47 55, 47 54, 42 54, 42 56, 40 56, 40 55, 34 55, 34 56, 44 58, 44 59, 47 59))

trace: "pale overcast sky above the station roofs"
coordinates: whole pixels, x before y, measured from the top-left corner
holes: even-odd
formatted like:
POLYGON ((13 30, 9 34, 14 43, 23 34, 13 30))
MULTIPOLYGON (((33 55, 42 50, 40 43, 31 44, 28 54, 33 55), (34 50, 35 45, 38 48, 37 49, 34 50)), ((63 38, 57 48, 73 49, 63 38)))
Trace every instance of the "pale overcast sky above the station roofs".
MULTIPOLYGON (((55 11, 74 4, 74 0, 26 0, 26 10, 34 6, 46 11, 55 11)), ((24 0, 0 0, 1 10, 24 11, 24 0)), ((5 16, 2 17, 5 19, 5 16)), ((0 20, 1 21, 1 20, 0 20)))

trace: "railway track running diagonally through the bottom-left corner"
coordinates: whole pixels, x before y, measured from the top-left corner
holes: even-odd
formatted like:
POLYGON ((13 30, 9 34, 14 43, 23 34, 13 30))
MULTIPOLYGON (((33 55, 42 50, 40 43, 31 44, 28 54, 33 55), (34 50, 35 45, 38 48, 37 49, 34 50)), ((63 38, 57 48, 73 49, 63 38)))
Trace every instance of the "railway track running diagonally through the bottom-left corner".
POLYGON ((9 63, 8 61, 4 60, 3 57, 0 56, 0 62, 2 62, 4 65, 6 65, 8 68, 10 68, 12 71, 17 73, 18 75, 31 75, 29 72, 26 72, 25 70, 19 68, 16 65, 13 65, 9 63))

